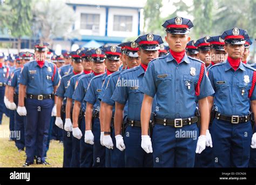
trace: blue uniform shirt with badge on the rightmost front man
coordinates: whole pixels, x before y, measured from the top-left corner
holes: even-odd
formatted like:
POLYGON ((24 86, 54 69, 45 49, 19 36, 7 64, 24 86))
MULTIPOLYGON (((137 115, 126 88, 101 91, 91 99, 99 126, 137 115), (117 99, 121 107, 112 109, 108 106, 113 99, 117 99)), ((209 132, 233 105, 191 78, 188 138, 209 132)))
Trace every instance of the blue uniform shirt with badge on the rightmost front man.
POLYGON ((248 94, 252 86, 254 69, 240 63, 234 71, 230 63, 215 64, 208 70, 208 77, 215 93, 214 104, 216 111, 225 115, 247 115, 250 100, 256 99, 255 88, 249 99, 248 94))

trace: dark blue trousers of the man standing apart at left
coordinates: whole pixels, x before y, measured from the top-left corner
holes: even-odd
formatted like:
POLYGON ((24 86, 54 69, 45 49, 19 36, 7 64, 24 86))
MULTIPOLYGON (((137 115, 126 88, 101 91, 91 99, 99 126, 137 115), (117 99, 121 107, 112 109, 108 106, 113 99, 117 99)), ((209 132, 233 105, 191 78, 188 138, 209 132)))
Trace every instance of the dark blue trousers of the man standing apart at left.
POLYGON ((36 100, 26 99, 26 162, 33 162, 33 155, 36 148, 37 158, 44 162, 44 154, 48 139, 51 112, 53 107, 52 99, 36 100))

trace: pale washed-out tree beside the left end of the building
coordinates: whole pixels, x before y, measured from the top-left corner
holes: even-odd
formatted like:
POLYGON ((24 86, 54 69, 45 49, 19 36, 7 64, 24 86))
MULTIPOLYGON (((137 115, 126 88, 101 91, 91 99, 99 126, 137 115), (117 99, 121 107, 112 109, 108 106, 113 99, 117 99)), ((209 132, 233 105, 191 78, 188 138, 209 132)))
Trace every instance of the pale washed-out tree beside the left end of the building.
POLYGON ((38 1, 33 16, 33 35, 43 42, 51 45, 53 38, 79 36, 77 30, 72 31, 75 13, 62 1, 38 1))

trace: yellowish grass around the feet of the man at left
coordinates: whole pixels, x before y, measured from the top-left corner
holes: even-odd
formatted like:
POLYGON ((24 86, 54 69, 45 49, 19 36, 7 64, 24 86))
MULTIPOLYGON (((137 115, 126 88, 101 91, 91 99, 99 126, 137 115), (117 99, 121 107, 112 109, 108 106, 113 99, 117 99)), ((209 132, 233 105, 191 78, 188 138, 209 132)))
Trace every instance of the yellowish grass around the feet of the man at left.
MULTIPOLYGON (((22 167, 25 162, 25 152, 18 152, 14 141, 9 141, 9 118, 3 115, 0 125, 0 167, 22 167), (5 133, 5 134, 3 134, 5 133)), ((51 140, 48 150, 48 159, 51 165, 31 165, 30 167, 62 167, 63 164, 63 143, 51 140)))

